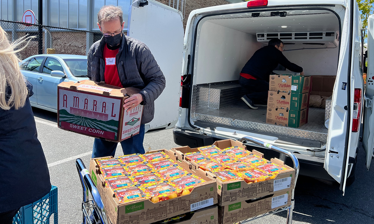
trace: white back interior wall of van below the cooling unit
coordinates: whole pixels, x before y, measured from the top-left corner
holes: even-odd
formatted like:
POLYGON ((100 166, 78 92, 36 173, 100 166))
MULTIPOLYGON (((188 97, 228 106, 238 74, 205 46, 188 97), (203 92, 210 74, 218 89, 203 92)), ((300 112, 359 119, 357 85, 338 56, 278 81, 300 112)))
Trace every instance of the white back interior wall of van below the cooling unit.
MULTIPOLYGON (((316 41, 317 42, 317 41, 316 41)), ((339 48, 333 43, 324 46, 285 45, 283 55, 298 66, 303 67, 305 75, 336 75, 339 48), (288 51, 302 48, 321 48, 288 51)))

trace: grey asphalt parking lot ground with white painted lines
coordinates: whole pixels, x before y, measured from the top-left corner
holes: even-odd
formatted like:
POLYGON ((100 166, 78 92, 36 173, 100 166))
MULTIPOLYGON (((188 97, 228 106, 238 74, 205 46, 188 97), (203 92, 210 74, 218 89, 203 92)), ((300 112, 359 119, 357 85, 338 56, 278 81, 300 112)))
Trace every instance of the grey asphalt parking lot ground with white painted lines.
MULTIPOLYGON (((36 108, 33 108, 33 111, 38 138, 49 166, 51 183, 58 187, 58 223, 82 223, 82 185, 75 160, 81 158, 86 167, 89 166, 93 138, 59 129, 56 113, 36 108)), ((173 147, 177 145, 173 141, 172 129, 145 134, 146 151, 173 147)), ((122 154, 119 144, 116 157, 122 154)), ((373 181, 374 167, 367 171, 362 146, 358 154, 355 182, 347 187, 345 196, 339 190, 338 184, 327 185, 300 176, 295 189, 293 223, 374 223, 373 181)), ((286 223, 286 212, 269 215, 252 223, 286 223)))

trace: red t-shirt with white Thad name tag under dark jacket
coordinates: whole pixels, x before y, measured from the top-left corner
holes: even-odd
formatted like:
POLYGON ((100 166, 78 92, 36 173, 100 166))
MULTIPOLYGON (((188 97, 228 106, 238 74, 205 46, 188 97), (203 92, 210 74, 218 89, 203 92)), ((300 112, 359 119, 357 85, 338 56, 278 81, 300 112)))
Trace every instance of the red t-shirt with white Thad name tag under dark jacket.
POLYGON ((105 61, 105 84, 114 85, 116 87, 121 87, 122 83, 119 79, 118 70, 117 70, 117 63, 116 55, 118 53, 119 48, 115 50, 108 49, 107 45, 105 44, 104 47, 104 61, 105 61))

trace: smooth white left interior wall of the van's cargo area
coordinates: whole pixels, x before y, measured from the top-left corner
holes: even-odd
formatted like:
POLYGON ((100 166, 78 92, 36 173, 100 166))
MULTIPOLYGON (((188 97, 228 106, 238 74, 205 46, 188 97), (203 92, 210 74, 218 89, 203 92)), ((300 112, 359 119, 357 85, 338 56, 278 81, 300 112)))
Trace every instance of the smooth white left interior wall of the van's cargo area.
POLYGON ((255 51, 265 46, 257 42, 254 35, 208 21, 203 23, 198 35, 195 84, 239 79, 245 63, 255 51))

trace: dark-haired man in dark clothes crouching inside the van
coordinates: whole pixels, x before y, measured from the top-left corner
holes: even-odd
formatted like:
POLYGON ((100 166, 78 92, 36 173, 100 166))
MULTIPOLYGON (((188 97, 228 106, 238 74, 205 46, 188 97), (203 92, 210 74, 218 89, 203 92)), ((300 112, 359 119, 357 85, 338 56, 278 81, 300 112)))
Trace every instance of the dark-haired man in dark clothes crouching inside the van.
POLYGON ((302 67, 291 63, 283 55, 283 47, 282 40, 278 38, 270 40, 268 46, 258 49, 252 55, 240 72, 239 84, 248 90, 248 94, 241 99, 249 108, 258 109, 255 105, 267 105, 269 77, 278 64, 304 75, 302 67))

